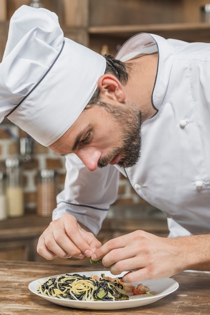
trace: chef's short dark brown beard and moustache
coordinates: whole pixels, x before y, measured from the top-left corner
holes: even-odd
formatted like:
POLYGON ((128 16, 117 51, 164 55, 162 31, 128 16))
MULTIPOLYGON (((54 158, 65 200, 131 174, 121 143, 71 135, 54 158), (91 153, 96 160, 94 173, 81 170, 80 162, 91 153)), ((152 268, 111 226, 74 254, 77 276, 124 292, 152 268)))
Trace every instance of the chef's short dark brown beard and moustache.
POLYGON ((116 129, 118 128, 121 134, 122 144, 115 148, 112 153, 101 158, 98 161, 98 167, 106 167, 118 153, 121 155, 118 166, 129 168, 136 165, 141 151, 141 111, 135 104, 131 104, 129 109, 116 108, 116 106, 107 103, 100 103, 100 106, 103 106, 114 118, 116 129))

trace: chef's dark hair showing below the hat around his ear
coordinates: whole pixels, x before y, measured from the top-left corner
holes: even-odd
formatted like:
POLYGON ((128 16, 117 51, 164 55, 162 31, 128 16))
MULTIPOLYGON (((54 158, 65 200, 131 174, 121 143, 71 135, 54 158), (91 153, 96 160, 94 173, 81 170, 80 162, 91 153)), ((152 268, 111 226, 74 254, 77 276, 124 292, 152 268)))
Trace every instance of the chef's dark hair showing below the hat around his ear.
MULTIPOLYGON (((124 62, 115 59, 111 55, 104 55, 104 58, 106 58, 107 66, 105 73, 110 73, 115 75, 120 83, 126 84, 128 82, 128 71, 124 64, 124 62)), ((88 104, 97 104, 97 102, 100 100, 100 90, 97 88, 92 95, 91 99, 89 100, 88 104)))

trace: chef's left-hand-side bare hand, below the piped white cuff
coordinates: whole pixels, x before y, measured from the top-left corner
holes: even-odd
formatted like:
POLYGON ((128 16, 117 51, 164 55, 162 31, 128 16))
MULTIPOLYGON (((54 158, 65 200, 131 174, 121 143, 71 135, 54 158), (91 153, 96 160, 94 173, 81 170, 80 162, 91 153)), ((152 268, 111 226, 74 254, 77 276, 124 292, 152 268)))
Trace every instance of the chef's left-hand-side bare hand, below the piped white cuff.
POLYGON ((42 233, 37 245, 37 253, 46 259, 91 257, 101 243, 94 235, 81 227, 71 214, 50 222, 42 233))

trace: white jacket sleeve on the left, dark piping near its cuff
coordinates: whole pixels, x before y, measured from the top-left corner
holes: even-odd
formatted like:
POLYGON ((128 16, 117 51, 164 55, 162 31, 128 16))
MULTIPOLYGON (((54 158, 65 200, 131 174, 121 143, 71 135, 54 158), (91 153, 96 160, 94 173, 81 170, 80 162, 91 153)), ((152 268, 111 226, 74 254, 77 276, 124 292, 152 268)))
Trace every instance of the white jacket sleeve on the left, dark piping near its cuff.
POLYGON ((70 213, 95 235, 118 194, 119 171, 112 165, 88 171, 74 154, 66 155, 64 190, 57 196, 53 220, 70 213))

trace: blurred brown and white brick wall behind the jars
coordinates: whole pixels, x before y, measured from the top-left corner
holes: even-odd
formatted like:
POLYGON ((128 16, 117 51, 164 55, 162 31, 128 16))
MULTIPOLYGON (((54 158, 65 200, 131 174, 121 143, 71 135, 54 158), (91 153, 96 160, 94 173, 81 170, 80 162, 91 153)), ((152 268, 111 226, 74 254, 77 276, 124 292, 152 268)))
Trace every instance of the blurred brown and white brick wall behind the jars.
MULTIPOLYGON (((0 162, 4 165, 7 157, 18 155, 20 152, 19 139, 27 134, 16 125, 7 120, 0 125, 0 162), (13 134, 13 137, 2 128, 6 126, 13 134)), ((65 181, 65 157, 55 154, 47 147, 34 141, 33 160, 30 163, 23 163, 24 175, 24 199, 25 212, 36 212, 37 207, 37 174, 41 169, 53 169, 58 172, 58 191, 64 187, 65 181)), ((145 202, 134 192, 128 180, 121 175, 119 194, 116 203, 121 204, 145 204, 145 202)))

